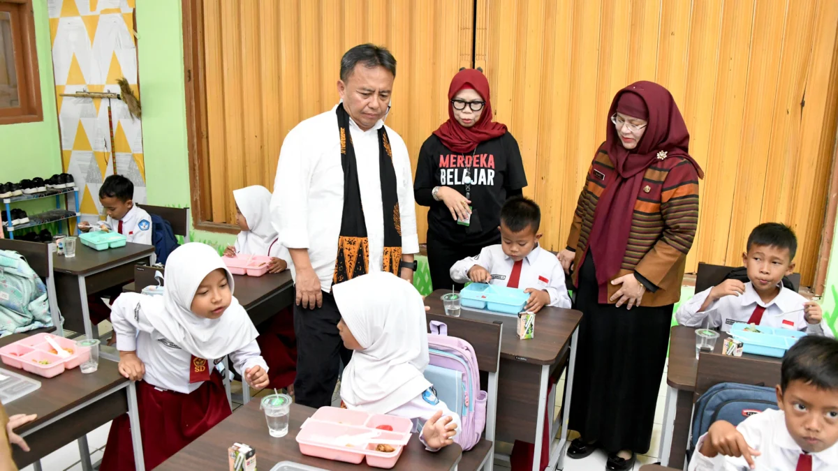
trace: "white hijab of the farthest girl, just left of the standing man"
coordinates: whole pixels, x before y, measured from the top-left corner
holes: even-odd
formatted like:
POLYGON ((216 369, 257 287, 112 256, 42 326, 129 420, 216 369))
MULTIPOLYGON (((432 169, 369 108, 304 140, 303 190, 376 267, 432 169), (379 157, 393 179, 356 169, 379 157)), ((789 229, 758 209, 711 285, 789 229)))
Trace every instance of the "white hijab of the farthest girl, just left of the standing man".
POLYGON ((277 230, 271 225, 271 192, 261 185, 233 190, 235 204, 245 216, 251 230, 239 232, 235 245, 247 255, 270 255, 268 250, 277 239, 277 230))

